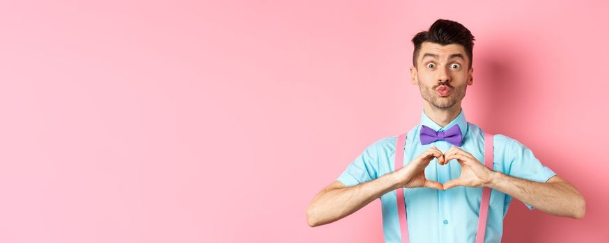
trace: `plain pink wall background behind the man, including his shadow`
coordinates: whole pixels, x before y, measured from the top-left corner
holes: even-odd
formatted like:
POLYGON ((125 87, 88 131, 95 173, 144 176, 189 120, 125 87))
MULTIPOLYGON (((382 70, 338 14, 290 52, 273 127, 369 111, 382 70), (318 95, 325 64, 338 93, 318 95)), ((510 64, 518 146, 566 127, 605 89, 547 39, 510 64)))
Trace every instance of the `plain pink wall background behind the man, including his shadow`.
POLYGON ((514 201, 503 242, 607 242, 609 3, 2 1, 0 242, 381 242, 380 201, 307 205, 417 125, 410 39, 477 41, 468 121, 571 181, 582 220, 514 201))

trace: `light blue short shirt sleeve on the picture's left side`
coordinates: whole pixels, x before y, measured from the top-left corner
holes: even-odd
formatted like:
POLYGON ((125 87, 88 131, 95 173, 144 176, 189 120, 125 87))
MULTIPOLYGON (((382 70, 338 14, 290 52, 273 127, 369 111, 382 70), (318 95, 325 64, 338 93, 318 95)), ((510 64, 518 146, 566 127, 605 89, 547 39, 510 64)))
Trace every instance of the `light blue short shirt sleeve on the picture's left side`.
POLYGON ((376 142, 369 145, 355 160, 350 162, 345 171, 337 178, 344 185, 350 187, 377 178, 378 150, 376 142))

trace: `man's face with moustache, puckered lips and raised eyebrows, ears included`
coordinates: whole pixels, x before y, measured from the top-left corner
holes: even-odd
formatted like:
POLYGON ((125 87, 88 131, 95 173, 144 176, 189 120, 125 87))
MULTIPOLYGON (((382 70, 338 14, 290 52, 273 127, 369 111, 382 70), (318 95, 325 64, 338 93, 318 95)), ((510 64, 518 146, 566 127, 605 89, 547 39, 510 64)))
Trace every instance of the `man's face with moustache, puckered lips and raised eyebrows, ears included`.
POLYGON ((473 84, 473 71, 461 44, 423 42, 417 67, 410 67, 410 76, 425 101, 436 108, 449 109, 465 97, 467 86, 473 84))

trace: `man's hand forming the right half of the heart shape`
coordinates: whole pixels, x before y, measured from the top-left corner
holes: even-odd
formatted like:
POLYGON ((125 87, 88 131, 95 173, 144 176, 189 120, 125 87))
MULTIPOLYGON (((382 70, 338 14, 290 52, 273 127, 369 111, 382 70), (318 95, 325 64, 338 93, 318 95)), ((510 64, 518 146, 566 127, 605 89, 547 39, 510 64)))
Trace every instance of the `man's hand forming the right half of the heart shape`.
POLYGON ((452 146, 444 153, 444 162, 440 165, 446 165, 450 160, 456 159, 461 164, 461 176, 451 181, 444 183, 444 190, 456 186, 466 187, 484 187, 491 183, 493 170, 488 169, 480 161, 478 161, 471 153, 463 151, 458 146, 452 146))

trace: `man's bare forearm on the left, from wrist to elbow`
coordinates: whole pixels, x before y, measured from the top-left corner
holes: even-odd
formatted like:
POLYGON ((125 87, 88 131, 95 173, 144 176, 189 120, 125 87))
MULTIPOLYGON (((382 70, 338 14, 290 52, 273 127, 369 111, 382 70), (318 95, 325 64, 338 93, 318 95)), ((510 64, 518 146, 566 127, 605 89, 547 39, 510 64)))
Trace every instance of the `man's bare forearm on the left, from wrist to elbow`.
POLYGON ((307 210, 310 226, 330 224, 360 210, 371 201, 399 187, 394 173, 352 187, 319 192, 307 210))

